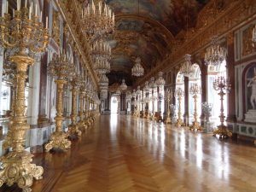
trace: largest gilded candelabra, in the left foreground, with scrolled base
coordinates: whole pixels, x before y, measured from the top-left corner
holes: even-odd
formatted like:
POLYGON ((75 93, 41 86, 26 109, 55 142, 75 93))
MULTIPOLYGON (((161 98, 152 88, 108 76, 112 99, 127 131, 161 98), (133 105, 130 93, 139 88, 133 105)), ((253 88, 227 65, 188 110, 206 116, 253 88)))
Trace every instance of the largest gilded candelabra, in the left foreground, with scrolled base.
POLYGON ((0 186, 3 183, 7 183, 9 186, 17 183, 23 192, 31 191, 33 177, 40 179, 44 172, 42 166, 31 163, 33 155, 24 148, 26 131, 29 129, 25 113, 26 70, 34 63, 30 54, 44 52, 49 40, 48 29, 44 28, 37 12, 33 14, 32 8, 30 10, 28 14, 28 9, 20 9, 19 0, 13 17, 5 13, 0 18, 0 44, 10 50, 12 54, 9 60, 16 65, 15 104, 9 125, 11 131, 9 146, 12 147, 12 151, 2 158, 3 169, 0 172, 0 186))

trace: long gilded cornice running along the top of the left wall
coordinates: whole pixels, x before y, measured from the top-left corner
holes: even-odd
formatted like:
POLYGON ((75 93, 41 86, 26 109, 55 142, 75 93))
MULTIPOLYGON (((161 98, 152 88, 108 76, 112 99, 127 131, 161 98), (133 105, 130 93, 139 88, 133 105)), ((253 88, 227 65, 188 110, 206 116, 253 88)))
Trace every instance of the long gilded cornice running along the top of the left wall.
POLYGON ((70 32, 70 35, 73 38, 73 41, 77 44, 78 53, 79 55, 81 55, 81 58, 84 63, 84 67, 86 67, 87 71, 89 72, 92 82, 94 84, 94 87, 98 88, 98 85, 97 85, 98 77, 96 76, 96 73, 94 73, 92 69, 92 61, 90 59, 90 53, 88 51, 89 45, 84 39, 81 40, 80 30, 82 29, 81 28, 82 24, 78 19, 79 13, 77 13, 76 5, 73 3, 75 3, 75 1, 63 1, 62 3, 62 1, 55 0, 55 4, 59 9, 63 20, 67 22, 66 27, 68 31, 70 32), (66 7, 65 3, 69 4, 68 8, 66 7), (76 22, 74 22, 74 20, 76 20, 76 22))

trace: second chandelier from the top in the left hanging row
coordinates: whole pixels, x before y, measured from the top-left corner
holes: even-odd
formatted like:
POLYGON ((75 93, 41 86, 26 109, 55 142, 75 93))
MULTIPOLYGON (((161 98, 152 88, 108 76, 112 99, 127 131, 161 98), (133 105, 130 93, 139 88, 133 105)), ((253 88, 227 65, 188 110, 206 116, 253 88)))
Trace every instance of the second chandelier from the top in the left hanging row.
POLYGON ((100 58, 109 61, 111 57, 111 47, 102 39, 96 40, 91 46, 91 55, 93 59, 100 58))

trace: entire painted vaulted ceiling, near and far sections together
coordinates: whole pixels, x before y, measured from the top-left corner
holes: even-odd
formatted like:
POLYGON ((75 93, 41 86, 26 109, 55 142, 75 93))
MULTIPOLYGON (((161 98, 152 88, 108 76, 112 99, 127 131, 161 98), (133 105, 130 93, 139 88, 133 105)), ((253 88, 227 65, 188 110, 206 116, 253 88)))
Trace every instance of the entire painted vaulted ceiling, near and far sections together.
POLYGON ((137 56, 142 59, 144 73, 156 67, 172 53, 178 33, 185 31, 187 24, 195 27, 197 15, 208 1, 106 0, 116 15, 115 32, 108 37, 112 47, 109 84, 124 78, 132 85, 137 80, 131 77, 137 56))

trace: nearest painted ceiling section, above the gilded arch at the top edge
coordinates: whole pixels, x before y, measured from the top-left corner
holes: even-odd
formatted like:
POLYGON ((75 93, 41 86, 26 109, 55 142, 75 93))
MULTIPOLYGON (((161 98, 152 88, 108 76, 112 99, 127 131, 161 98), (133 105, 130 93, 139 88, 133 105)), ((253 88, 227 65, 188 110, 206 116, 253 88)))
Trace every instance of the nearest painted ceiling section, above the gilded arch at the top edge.
POLYGON ((209 0, 140 0, 138 13, 137 0, 106 0, 115 15, 144 15, 166 26, 173 36, 186 29, 186 15, 189 27, 194 27, 198 13, 207 2, 209 0))

